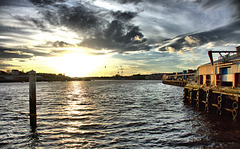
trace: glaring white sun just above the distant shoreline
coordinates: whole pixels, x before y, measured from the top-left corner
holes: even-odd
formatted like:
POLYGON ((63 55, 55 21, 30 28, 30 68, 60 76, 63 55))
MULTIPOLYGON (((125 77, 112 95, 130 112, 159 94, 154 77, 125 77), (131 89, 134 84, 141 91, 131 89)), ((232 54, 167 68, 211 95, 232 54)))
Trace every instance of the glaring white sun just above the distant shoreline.
POLYGON ((50 65, 60 73, 70 77, 86 77, 103 63, 101 56, 86 53, 68 53, 51 59, 50 65))

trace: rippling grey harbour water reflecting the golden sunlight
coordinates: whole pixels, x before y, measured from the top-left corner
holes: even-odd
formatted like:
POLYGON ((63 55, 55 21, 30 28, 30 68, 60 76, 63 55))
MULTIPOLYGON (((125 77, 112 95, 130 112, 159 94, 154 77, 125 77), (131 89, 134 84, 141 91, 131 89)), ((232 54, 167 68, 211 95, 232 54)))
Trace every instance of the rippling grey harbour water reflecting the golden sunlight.
POLYGON ((239 124, 182 102, 161 81, 38 82, 38 127, 28 83, 0 84, 0 148, 233 148, 239 124))

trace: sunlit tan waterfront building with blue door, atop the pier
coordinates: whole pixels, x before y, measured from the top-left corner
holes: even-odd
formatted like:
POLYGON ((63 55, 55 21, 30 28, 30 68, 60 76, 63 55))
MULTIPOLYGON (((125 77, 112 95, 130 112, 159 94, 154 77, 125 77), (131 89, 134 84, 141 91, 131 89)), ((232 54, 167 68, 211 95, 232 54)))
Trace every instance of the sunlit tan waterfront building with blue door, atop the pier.
MULTIPOLYGON (((212 53, 213 51, 209 51, 211 63, 198 67, 195 78, 197 83, 206 86, 240 87, 240 47, 236 48, 236 54, 230 55, 233 53, 230 51, 215 62, 212 61, 212 53)), ((221 51, 219 53, 221 54, 221 51)))

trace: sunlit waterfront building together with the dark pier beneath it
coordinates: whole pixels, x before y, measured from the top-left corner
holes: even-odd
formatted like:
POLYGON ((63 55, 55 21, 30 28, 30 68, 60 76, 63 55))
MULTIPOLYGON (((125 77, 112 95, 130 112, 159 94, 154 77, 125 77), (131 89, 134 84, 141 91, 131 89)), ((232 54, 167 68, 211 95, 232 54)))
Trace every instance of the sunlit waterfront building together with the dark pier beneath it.
POLYGON ((183 101, 236 121, 240 118, 240 46, 236 51, 208 51, 208 55, 210 63, 199 66, 194 81, 184 87, 183 101), (214 53, 220 55, 216 61, 214 53))

